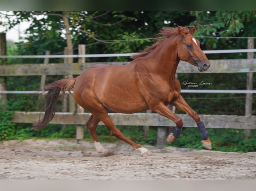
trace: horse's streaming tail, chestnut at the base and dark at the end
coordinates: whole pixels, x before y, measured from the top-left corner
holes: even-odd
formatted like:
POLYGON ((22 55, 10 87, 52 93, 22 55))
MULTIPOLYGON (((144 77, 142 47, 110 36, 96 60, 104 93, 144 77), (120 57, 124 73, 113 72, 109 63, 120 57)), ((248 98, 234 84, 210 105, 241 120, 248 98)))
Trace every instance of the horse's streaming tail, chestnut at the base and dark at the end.
POLYGON ((40 119, 37 124, 33 125, 34 129, 42 129, 53 119, 56 112, 59 93, 69 91, 71 94, 76 80, 77 78, 61 79, 43 88, 43 91, 48 91, 43 100, 43 104, 45 105, 45 113, 44 117, 40 119))

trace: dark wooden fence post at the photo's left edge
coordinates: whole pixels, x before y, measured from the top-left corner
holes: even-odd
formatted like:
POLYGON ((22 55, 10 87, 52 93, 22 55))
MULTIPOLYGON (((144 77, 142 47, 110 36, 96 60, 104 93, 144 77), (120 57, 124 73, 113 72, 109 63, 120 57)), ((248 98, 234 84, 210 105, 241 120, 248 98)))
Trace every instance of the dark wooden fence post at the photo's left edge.
MULTIPOLYGON (((6 55, 6 34, 0 33, 0 55, 6 55)), ((6 64, 6 59, 1 59, 2 65, 6 64)), ((0 76, 0 91, 6 91, 6 77, 0 76)), ((0 94, 0 100, 2 104, 6 103, 7 94, 0 94)), ((5 107, 0 107, 0 109, 5 109, 5 107)))

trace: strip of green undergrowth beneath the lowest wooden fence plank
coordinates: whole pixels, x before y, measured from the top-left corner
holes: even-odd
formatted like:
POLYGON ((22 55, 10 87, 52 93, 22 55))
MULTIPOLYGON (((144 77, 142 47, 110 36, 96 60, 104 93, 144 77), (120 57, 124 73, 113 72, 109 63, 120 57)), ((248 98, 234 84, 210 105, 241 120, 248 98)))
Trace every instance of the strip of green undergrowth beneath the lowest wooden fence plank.
MULTIPOLYGON (((132 141, 138 144, 149 144, 156 146, 157 142, 157 127, 150 127, 148 138, 143 138, 143 128, 141 126, 117 126, 121 132, 132 141)), ((252 130, 252 137, 244 140, 243 129, 216 129, 207 128, 209 138, 212 141, 212 147, 215 151, 234 151, 234 152, 256 152, 256 130, 252 130)), ((118 139, 111 136, 106 126, 98 126, 97 135, 101 142, 115 142, 118 139)), ((66 125, 66 128, 61 130, 61 125, 49 124, 40 131, 32 130, 31 127, 18 126, 15 127, 13 135, 9 139, 24 140, 27 138, 38 139, 40 137, 55 139, 65 138, 74 140, 76 137, 76 125, 66 125)), ((4 139, 2 139, 3 141, 4 139)), ((92 140, 88 129, 84 128, 84 140, 92 140)), ((168 146, 204 149, 201 143, 201 134, 198 128, 183 127, 181 137, 168 146)))

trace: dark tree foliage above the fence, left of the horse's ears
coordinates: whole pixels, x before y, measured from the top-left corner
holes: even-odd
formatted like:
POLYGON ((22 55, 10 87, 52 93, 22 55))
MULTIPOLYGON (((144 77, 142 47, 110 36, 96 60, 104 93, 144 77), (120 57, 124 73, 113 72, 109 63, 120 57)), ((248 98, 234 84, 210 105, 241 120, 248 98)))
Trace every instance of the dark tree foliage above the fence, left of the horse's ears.
POLYGON ((78 44, 86 44, 87 54, 138 52, 152 44, 146 39, 162 26, 184 26, 194 20, 189 11, 13 11, 5 14, 9 21, 3 25, 12 28, 22 21, 31 23, 24 38, 27 42, 18 45, 20 54, 40 55, 45 50, 59 54, 67 46, 65 14, 74 51, 78 44), (13 15, 17 19, 12 20, 13 15))

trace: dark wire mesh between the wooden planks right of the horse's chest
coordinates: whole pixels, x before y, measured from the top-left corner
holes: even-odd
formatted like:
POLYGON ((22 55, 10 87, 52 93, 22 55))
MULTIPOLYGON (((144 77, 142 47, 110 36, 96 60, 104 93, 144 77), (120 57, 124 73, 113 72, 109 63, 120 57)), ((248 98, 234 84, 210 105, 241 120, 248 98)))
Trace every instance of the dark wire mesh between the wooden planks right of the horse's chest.
MULTIPOLYGON (((246 73, 178 74, 182 90, 246 90, 246 73)), ((256 90, 256 74, 253 77, 256 90)), ((191 108, 199 114, 245 115, 246 94, 181 93, 191 108)), ((252 114, 256 95, 252 94, 252 114)), ((176 113, 182 113, 178 109, 176 113)))

